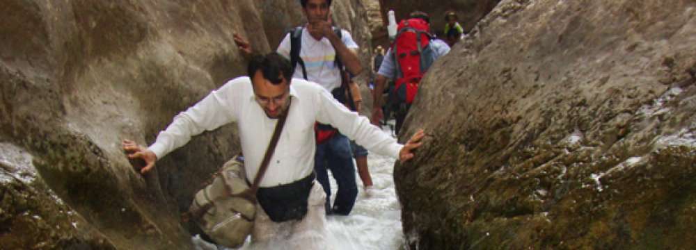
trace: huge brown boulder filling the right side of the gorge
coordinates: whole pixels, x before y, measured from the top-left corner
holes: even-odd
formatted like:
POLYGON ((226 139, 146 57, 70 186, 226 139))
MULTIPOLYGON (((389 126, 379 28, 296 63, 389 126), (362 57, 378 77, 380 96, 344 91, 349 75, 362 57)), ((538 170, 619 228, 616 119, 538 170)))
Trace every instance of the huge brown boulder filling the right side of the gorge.
POLYGON ((424 78, 412 249, 688 249, 696 3, 502 1, 424 78))

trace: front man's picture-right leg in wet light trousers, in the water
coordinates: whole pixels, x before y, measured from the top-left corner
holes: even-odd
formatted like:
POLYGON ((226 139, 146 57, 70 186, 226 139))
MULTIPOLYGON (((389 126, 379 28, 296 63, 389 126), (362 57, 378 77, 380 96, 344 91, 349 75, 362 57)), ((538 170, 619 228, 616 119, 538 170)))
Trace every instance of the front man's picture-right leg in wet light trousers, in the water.
POLYGON ((326 194, 314 183, 307 202, 307 214, 292 229, 292 249, 325 249, 326 194))

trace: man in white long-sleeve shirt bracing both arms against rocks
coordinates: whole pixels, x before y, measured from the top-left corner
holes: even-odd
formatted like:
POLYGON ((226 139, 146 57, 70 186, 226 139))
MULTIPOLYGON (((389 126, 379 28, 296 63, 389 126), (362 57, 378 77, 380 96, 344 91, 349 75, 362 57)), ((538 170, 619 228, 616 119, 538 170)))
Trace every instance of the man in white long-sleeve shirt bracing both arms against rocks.
MULTIPOLYGON (((307 202, 303 203, 303 206, 307 206, 304 210, 306 214, 285 222, 273 222, 267 214, 269 211, 292 213, 294 209, 278 210, 260 204, 256 210, 252 240, 271 240, 272 236, 278 235, 281 227, 290 224, 290 237, 299 238, 297 242, 317 244, 302 247, 325 247, 322 246, 326 223, 325 194, 311 177, 315 152, 314 122, 331 124, 370 151, 393 156, 402 161, 413 158, 411 150, 420 147, 420 140, 425 132, 421 129, 405 145, 398 144, 377 126, 370 124, 366 117, 349 111, 342 103, 333 99, 331 93, 316 83, 303 79, 287 81, 291 72, 290 62, 278 53, 255 56, 248 67, 248 74, 253 76, 252 78, 235 78, 212 91, 194 106, 174 117, 173 122, 165 131, 159 133, 157 140, 150 147, 141 147, 130 140, 124 140, 123 147, 129 152, 129 158, 145 160, 146 165, 141 170, 145 173, 155 167, 157 159, 182 147, 193 135, 237 122, 246 176, 249 178, 247 181, 251 182, 258 172, 277 118, 288 112, 285 128, 262 178, 260 190, 304 194, 303 197, 307 197, 307 202), (312 184, 308 185, 309 188, 296 185, 307 180, 312 184), (291 188, 295 190, 284 190, 291 188)), ((274 198, 282 200, 283 197, 274 198)), ((278 206, 297 203, 296 200, 286 200, 280 201, 278 206)))

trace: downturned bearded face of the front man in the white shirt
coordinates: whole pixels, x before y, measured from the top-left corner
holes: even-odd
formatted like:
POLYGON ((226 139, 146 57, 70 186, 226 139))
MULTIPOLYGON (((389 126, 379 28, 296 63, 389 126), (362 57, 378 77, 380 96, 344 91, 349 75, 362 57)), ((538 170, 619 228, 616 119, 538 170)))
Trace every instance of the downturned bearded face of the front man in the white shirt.
POLYGON ((290 84, 287 80, 283 79, 282 83, 276 85, 264 78, 261 70, 257 70, 251 78, 251 83, 254 86, 256 102, 269 118, 276 119, 285 113, 290 100, 290 84))

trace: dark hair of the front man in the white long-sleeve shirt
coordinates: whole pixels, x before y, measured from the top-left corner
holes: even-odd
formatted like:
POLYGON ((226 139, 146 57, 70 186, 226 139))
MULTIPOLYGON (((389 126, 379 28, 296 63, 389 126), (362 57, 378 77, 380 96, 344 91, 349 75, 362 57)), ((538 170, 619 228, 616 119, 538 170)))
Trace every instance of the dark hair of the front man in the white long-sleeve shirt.
POLYGON ((292 76, 290 61, 276 52, 253 56, 247 68, 249 77, 253 78, 259 69, 263 78, 268 79, 275 85, 283 82, 283 78, 287 80, 287 83, 290 83, 290 77, 292 76), (280 77, 281 75, 283 78, 280 77))

